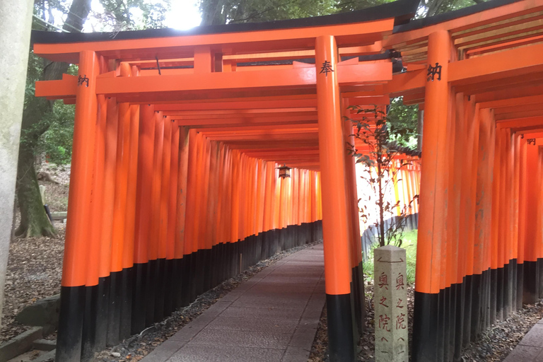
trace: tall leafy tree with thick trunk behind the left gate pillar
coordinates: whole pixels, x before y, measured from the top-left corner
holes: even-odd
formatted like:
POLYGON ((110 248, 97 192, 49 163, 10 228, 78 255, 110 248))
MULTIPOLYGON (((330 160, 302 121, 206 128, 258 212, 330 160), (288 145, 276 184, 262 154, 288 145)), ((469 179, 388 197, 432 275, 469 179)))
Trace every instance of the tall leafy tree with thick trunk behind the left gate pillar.
MULTIPOLYGON (((100 23, 99 30, 129 30, 160 28, 170 0, 100 0, 101 14, 93 13, 100 23), (139 13, 139 18, 134 16, 139 13)), ((35 15, 42 19, 33 26, 40 30, 58 30, 54 14, 66 17, 62 29, 81 32, 91 12, 91 0, 35 0, 35 15), (48 24, 51 25, 48 25, 48 24)), ((46 153, 57 163, 69 163, 73 135, 74 106, 35 98, 35 81, 61 79, 62 74, 76 74, 76 67, 66 63, 48 62, 30 53, 28 62, 27 94, 21 130, 21 148, 18 159, 17 197, 21 210, 18 236, 52 236, 55 234, 42 206, 35 172, 35 156, 46 153)))

